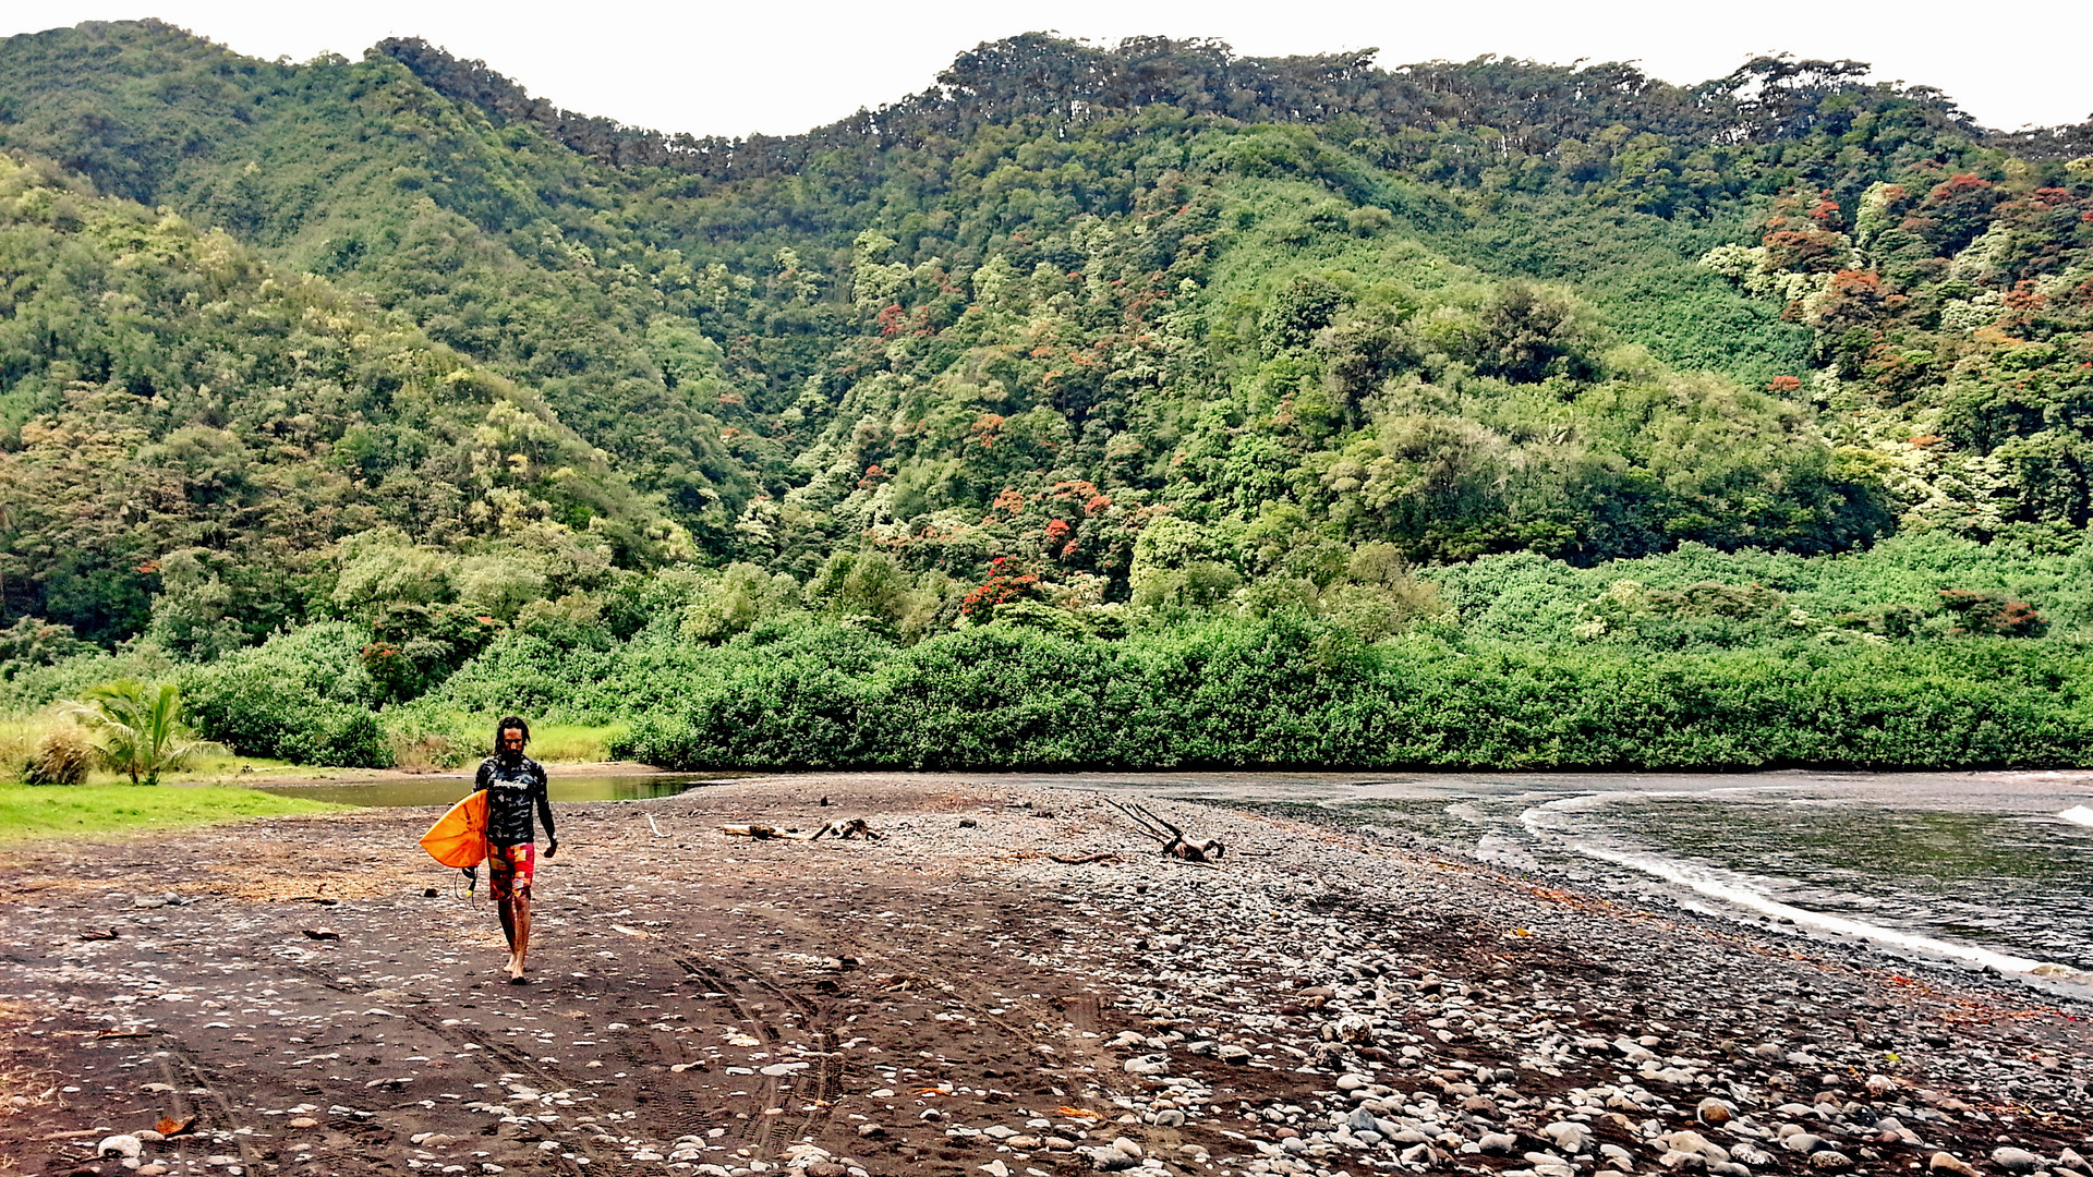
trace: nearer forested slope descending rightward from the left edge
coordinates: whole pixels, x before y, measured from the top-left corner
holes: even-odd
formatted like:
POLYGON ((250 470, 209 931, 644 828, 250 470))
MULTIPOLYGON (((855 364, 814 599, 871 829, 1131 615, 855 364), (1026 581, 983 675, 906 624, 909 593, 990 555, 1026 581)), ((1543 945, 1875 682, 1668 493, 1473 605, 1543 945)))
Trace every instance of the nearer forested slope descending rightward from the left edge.
POLYGON ((676 555, 534 394, 224 232, 0 159, 0 584, 86 637, 138 632, 163 588, 205 609, 163 607, 167 641, 245 645, 303 620, 335 540, 379 528, 676 555))

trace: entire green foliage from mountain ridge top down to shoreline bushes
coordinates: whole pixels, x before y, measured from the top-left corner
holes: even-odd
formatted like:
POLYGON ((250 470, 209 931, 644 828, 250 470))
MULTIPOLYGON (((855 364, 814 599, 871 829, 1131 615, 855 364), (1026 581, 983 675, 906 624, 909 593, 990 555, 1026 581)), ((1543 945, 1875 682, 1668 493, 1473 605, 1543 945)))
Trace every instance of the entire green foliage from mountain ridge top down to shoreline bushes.
MULTIPOLYGON (((0 710, 454 762, 2093 754, 2093 124, 984 44, 791 138, 0 42, 0 710)), ((0 771, 19 764, 0 764, 0 771)))

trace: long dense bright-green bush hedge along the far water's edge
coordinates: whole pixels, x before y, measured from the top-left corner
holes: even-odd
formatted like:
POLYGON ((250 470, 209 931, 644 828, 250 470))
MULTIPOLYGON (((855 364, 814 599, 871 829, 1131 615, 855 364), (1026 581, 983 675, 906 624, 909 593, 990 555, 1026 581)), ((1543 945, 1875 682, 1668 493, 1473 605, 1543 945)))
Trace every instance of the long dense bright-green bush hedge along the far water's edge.
POLYGON ((1743 651, 1367 645, 1306 614, 1111 645, 1017 626, 848 670, 739 662, 645 712, 674 769, 1764 769, 2093 758, 2093 664, 2026 641, 1743 651))

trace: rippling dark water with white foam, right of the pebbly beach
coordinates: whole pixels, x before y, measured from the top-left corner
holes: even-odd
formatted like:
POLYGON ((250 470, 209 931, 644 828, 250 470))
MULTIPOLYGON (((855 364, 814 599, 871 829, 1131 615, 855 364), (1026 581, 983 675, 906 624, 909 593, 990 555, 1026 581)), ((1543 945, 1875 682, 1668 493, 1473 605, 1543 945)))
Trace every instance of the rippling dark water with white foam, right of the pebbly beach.
MULTIPOLYGON (((1099 779, 1097 783, 1105 783, 1099 779)), ((2093 773, 1120 779, 2093 995, 2093 773), (2080 810, 2074 817, 2093 819, 2080 810)))

